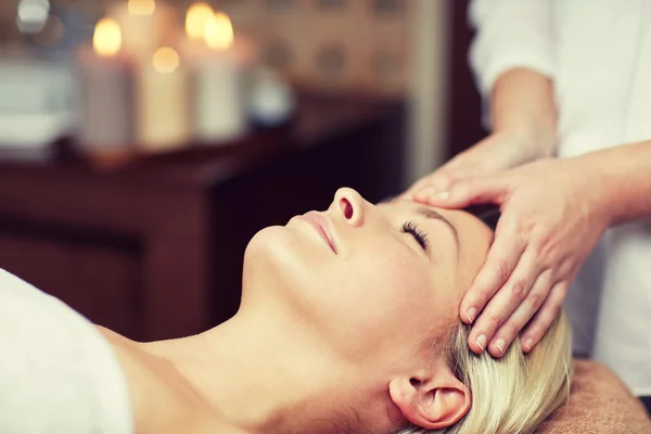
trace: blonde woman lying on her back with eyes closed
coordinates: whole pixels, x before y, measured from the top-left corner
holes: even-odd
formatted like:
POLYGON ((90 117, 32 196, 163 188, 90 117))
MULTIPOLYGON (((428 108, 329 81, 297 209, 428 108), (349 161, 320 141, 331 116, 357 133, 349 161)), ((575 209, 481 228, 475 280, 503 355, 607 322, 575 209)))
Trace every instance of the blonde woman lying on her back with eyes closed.
MULTIPOLYGON (((65 342, 75 331, 41 337, 36 374, 3 369, 0 383, 21 391, 29 379, 40 391, 53 379, 68 391, 58 396, 51 384, 46 397, 4 397, 0 431, 39 432, 24 429, 29 414, 41 426, 47 416, 59 421, 60 431, 41 432, 66 433, 531 433, 566 397, 569 330, 559 318, 527 356, 514 347, 497 361, 469 350, 458 304, 492 240, 468 213, 410 201, 375 206, 341 189, 327 212, 252 239, 240 310, 215 329, 153 343, 100 329, 118 360, 102 357, 101 375, 79 373, 93 367, 84 363, 85 348, 65 342), (43 371, 53 363, 43 348, 66 345, 64 374, 43 371), (87 398, 76 403, 78 395, 87 398), (90 406, 92 414, 78 410, 93 400, 102 405, 90 406), (78 429, 63 427, 72 419, 78 429)), ((47 316, 26 318, 23 308, 12 319, 18 304, 0 308, 13 334, 47 316)), ((104 352, 90 341, 93 356, 104 352)), ((10 353, 10 365, 35 363, 25 353, 10 353)))

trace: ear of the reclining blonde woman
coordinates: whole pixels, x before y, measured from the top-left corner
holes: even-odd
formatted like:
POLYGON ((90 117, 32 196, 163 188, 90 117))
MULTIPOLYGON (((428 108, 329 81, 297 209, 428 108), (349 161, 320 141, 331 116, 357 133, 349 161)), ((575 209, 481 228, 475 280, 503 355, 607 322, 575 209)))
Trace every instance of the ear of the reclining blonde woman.
POLYGON ((431 373, 396 378, 388 384, 388 393, 405 419, 426 430, 451 426, 470 410, 470 391, 446 366, 431 373))

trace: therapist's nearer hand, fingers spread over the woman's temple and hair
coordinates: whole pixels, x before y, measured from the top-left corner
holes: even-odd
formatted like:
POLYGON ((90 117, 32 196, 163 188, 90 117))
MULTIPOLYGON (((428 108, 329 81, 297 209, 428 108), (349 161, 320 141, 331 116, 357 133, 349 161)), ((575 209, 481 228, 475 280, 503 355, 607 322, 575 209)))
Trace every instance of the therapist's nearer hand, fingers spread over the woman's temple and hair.
POLYGON ((578 268, 609 226, 600 177, 580 158, 544 159, 468 178, 439 195, 416 195, 433 206, 500 206, 495 241, 460 306, 474 326, 474 353, 501 356, 518 333, 525 352, 559 312, 578 268), (476 320, 476 321, 475 321, 476 320))

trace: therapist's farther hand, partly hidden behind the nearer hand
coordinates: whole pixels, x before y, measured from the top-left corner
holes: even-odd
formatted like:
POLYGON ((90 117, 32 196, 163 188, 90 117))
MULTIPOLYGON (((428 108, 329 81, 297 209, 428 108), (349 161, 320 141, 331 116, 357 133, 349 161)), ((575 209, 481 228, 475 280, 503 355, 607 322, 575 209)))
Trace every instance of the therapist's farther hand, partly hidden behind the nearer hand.
POLYGON ((433 195, 460 180, 515 167, 538 156, 535 141, 533 132, 524 128, 496 131, 416 181, 404 195, 433 195))

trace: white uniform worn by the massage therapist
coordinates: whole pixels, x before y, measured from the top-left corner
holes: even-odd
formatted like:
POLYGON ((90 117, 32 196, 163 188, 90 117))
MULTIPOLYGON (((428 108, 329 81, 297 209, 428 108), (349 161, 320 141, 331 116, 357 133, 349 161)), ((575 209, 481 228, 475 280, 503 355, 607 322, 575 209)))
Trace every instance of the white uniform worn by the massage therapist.
MULTIPOLYGON (((651 1, 475 0, 470 18, 470 60, 485 95, 513 67, 553 79, 559 156, 651 139, 651 1)), ((596 323, 593 356, 634 393, 651 395, 651 226, 615 228, 602 241, 603 286, 588 276, 590 288, 579 281, 567 308, 603 292, 597 317, 578 321, 596 323)))

